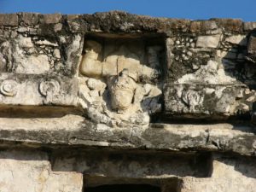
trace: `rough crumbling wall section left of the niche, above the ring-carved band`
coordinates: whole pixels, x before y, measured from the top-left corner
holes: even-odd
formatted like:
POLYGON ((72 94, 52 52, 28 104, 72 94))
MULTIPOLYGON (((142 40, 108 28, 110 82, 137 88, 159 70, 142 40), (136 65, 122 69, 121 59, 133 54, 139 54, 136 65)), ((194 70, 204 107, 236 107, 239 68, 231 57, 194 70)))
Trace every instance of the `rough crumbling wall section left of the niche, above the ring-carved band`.
POLYGON ((16 33, 12 39, 6 39, 8 35, 5 35, 6 38, 0 41, 1 71, 68 76, 77 73, 83 48, 83 38, 79 34, 42 38, 38 34, 28 35, 28 27, 18 30, 22 34, 16 33))

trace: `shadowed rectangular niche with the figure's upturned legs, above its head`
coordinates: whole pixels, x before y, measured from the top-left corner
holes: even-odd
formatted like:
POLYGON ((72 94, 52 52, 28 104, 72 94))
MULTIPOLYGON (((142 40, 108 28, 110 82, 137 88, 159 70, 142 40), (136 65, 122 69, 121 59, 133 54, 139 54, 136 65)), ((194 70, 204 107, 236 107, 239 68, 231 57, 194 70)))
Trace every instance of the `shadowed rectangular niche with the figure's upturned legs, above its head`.
POLYGON ((159 82, 166 71, 165 47, 165 38, 155 35, 86 35, 80 74, 105 78, 128 69, 138 82, 159 82))

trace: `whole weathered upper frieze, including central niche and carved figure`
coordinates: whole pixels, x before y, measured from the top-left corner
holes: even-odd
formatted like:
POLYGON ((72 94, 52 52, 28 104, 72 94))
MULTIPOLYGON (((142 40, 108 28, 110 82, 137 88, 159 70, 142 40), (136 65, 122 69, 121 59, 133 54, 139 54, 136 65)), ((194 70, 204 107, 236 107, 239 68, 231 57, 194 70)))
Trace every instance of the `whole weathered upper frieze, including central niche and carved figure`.
POLYGON ((242 31, 249 24, 241 20, 2 16, 19 19, 1 23, 3 106, 72 106, 106 127, 147 128, 170 117, 250 119, 253 33, 242 31))

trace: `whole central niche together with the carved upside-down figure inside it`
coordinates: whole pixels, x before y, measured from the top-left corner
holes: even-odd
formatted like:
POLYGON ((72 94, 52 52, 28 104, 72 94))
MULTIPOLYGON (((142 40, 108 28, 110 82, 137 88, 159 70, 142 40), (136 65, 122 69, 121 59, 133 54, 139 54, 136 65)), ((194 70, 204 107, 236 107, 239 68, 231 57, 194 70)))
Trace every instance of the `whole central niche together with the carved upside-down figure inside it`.
POLYGON ((80 96, 92 121, 147 126, 161 112, 165 37, 87 34, 81 58, 80 96))

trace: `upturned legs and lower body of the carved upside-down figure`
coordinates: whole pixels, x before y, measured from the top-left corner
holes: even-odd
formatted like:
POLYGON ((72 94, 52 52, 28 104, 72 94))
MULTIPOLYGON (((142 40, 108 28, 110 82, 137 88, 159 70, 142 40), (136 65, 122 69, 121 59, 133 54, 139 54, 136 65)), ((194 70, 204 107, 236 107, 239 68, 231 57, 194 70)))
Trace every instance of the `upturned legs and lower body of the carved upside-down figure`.
POLYGON ((128 69, 134 79, 139 77, 153 79, 158 74, 156 67, 160 66, 157 54, 159 46, 148 47, 148 64, 143 65, 139 55, 121 45, 119 49, 106 56, 104 61, 99 61, 102 54, 102 45, 96 41, 85 42, 85 55, 80 65, 80 73, 90 78, 101 78, 118 75, 123 69, 128 69))

